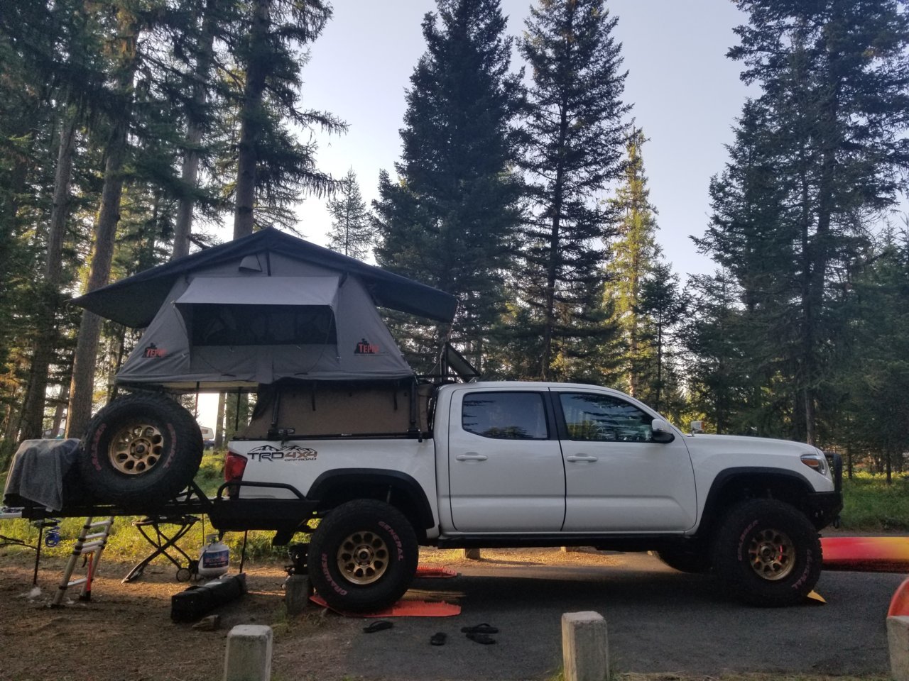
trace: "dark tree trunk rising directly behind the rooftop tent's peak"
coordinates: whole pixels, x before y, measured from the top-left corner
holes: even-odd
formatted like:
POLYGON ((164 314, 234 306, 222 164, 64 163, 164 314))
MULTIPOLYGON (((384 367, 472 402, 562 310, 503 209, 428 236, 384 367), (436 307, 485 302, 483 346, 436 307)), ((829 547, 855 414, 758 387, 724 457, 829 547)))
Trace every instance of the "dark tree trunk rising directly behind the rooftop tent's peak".
POLYGON ((249 62, 246 64, 246 84, 243 109, 240 112, 240 142, 237 145, 236 208, 234 238, 253 233, 255 204, 256 148, 262 123, 262 94, 265 92, 268 24, 271 0, 255 0, 253 25, 249 32, 249 62))

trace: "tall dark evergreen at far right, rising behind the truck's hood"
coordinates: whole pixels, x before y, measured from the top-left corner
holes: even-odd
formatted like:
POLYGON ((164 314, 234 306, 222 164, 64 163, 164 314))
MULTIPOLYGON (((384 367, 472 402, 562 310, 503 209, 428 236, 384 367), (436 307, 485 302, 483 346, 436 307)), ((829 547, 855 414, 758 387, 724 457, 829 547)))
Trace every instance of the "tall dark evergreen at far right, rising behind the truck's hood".
POLYGON ((851 323, 838 314, 843 284, 864 266, 867 234, 907 167, 909 17, 891 0, 736 4, 749 24, 729 56, 760 94, 744 106, 697 240, 731 301, 713 354, 725 376, 701 380, 728 383, 722 427, 751 421, 822 441, 851 323))

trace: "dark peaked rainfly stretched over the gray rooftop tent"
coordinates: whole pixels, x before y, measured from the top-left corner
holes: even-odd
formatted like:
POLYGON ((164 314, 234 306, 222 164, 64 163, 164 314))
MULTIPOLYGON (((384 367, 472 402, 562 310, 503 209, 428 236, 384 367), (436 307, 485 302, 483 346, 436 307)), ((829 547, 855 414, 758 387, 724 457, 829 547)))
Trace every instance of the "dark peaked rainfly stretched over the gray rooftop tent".
POLYGON ((275 271, 277 256, 324 268, 326 275, 335 274, 342 278, 345 275, 355 276, 368 292, 372 303, 379 307, 435 321, 454 319, 457 299, 453 295, 271 227, 115 281, 73 302, 105 319, 144 328, 155 319, 177 281, 225 264, 230 265, 233 274, 243 272, 275 276, 278 275, 275 271))

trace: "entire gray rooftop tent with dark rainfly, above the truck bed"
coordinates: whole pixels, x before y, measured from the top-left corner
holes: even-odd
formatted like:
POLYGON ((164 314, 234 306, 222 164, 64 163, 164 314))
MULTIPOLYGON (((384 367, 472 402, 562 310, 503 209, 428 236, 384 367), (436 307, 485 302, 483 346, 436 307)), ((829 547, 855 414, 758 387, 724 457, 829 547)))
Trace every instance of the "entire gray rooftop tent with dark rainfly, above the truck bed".
POLYGON ((265 229, 74 301, 146 327, 116 376, 168 390, 413 376, 376 306, 451 321, 454 296, 265 229))

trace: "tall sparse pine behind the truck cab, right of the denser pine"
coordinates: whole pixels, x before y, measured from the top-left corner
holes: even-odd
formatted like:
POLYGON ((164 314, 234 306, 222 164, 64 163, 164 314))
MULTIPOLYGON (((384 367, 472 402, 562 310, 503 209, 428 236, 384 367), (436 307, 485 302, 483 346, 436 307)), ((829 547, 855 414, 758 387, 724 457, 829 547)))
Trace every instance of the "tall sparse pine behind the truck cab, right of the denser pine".
POLYGON ((597 320, 609 216, 596 198, 623 167, 628 107, 616 22, 603 0, 540 0, 520 44, 534 79, 524 162, 534 208, 518 285, 532 311, 528 332, 540 338, 534 373, 543 379, 584 338, 608 337, 597 320))

